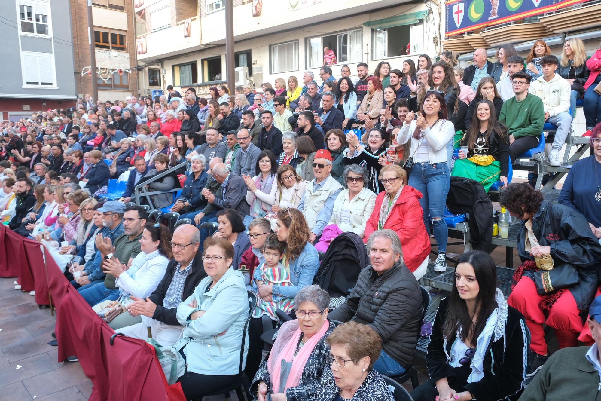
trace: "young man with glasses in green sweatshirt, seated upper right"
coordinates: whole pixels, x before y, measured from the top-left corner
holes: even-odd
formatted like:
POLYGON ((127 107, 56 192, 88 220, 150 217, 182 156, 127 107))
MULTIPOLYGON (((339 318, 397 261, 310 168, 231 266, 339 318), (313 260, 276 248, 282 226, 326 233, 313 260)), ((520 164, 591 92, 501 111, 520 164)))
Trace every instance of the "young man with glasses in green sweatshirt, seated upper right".
POLYGON ((528 74, 523 71, 514 73, 511 85, 516 96, 503 103, 499 121, 509 131, 509 155, 513 163, 517 156, 538 145, 545 125, 545 108, 540 97, 528 93, 528 74))

